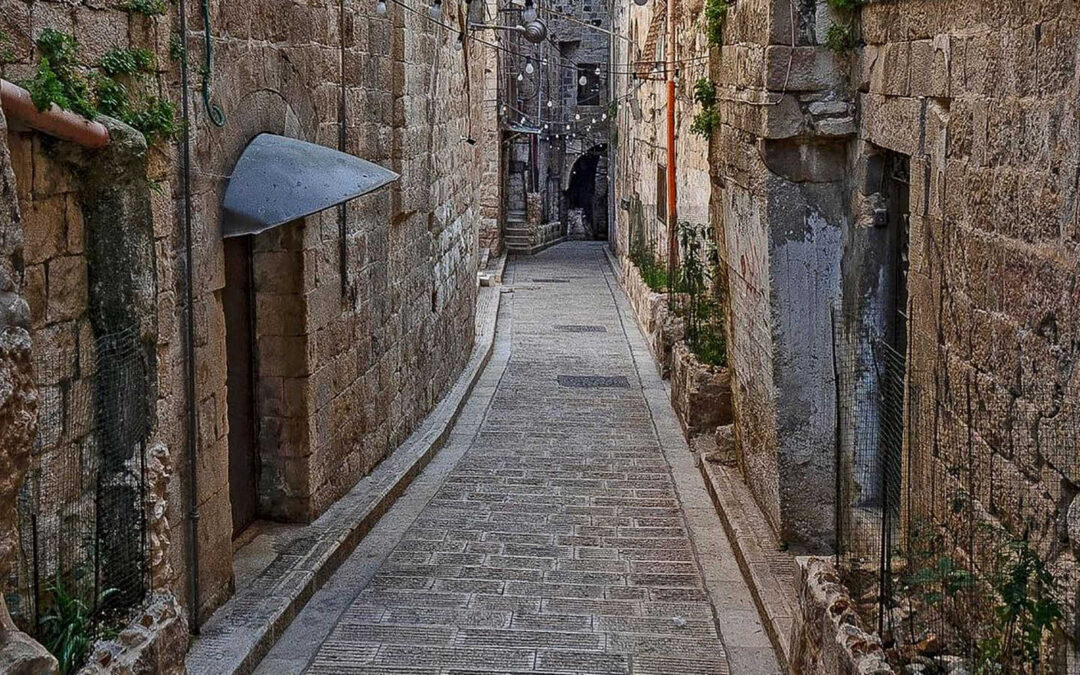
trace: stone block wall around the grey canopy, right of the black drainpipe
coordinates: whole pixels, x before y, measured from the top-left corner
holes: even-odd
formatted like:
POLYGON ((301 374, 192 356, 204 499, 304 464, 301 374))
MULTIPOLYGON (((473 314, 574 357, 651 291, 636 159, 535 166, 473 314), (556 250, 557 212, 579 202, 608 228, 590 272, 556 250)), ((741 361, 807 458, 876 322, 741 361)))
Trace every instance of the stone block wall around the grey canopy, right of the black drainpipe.
MULTIPOLYGON (((275 352, 260 354, 259 367, 288 361, 295 368, 287 375, 308 387, 298 401, 286 387, 281 399, 269 396, 271 405, 300 409, 265 427, 283 435, 260 438, 260 455, 280 460, 265 459, 260 480, 264 488, 287 483, 291 494, 292 505, 269 498, 266 512, 310 519, 408 435, 468 356, 487 149, 463 137, 483 129, 485 106, 477 104, 492 98, 480 51, 456 51, 457 35, 393 5, 378 16, 374 4, 346 3, 343 33, 338 3, 219 9, 215 99, 229 122, 219 130, 198 107, 193 140, 201 616, 231 583, 220 176, 261 132, 337 145, 343 40, 345 149, 402 179, 346 208, 345 295, 336 211, 291 226, 298 228, 293 262, 302 279, 297 320, 305 335, 267 341, 275 352)), ((457 4, 444 11, 456 16, 457 4)))

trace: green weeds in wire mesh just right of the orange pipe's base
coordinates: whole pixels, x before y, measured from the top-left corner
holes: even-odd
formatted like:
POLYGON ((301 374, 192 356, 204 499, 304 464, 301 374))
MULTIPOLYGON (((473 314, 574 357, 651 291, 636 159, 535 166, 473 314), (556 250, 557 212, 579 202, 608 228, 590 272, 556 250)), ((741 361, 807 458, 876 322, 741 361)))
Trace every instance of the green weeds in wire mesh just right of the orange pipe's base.
POLYGON ((727 365, 723 309, 716 297, 719 257, 707 226, 679 225, 681 258, 677 289, 684 294, 676 312, 686 322, 686 342, 706 365, 727 365))

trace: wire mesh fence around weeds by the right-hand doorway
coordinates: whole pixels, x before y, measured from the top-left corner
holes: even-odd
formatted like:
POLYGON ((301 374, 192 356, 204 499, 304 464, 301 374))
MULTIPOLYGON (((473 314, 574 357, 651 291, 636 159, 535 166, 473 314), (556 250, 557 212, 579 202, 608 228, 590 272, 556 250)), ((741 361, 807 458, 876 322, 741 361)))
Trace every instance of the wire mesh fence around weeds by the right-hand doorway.
POLYGON ((918 372, 852 325, 834 322, 836 548, 864 620, 922 673, 1068 672, 1078 411, 971 368, 918 372))

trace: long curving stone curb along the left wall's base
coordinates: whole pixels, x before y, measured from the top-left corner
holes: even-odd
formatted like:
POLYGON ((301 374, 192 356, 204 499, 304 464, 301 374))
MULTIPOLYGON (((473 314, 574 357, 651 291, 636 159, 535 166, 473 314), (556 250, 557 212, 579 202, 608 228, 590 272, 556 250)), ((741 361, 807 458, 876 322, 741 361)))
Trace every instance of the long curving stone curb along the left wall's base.
POLYGON ((498 288, 480 289, 476 343, 454 387, 416 431, 293 541, 202 627, 186 659, 193 675, 251 673, 360 540, 449 437, 495 345, 498 288))

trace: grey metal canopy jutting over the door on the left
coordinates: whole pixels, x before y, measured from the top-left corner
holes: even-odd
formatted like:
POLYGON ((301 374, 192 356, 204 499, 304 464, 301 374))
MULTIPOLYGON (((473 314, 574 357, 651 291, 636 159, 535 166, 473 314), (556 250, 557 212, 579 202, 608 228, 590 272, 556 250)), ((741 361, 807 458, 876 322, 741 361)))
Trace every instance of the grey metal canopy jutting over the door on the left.
POLYGON ((337 206, 401 176, 333 148, 260 134, 240 156, 221 204, 222 235, 258 234, 337 206))

